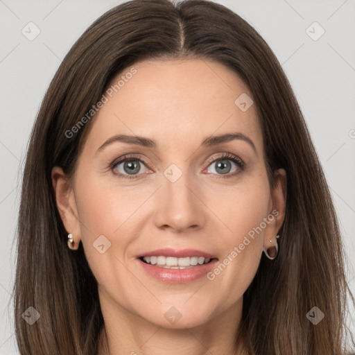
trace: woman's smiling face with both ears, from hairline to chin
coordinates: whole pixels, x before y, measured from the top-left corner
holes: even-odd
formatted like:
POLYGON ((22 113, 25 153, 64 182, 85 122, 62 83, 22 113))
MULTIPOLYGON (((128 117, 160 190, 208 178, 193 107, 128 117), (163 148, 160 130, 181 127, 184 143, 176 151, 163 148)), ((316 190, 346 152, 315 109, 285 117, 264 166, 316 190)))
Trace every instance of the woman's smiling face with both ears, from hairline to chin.
POLYGON ((53 187, 103 309, 194 327, 241 310, 282 225, 282 185, 270 191, 252 94, 236 73, 207 60, 134 68, 87 123, 73 180, 53 168, 53 187))

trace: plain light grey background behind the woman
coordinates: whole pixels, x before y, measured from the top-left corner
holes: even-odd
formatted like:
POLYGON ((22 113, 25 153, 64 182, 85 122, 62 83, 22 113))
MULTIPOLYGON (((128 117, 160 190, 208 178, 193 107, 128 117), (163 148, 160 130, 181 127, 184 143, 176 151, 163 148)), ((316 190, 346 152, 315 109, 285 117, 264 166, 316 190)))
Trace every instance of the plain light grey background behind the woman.
MULTIPOLYGON (((121 2, 0 0, 0 355, 17 354, 9 303, 15 277, 12 241, 33 121, 72 44, 99 15, 121 2), (33 41, 21 33, 30 21, 41 31, 33 41)), ((261 33, 291 81, 334 197, 352 263, 347 279, 355 293, 355 0, 216 2, 261 33), (317 25, 309 28, 314 21, 325 31, 318 40, 309 36, 321 33, 317 25)), ((354 332, 354 315, 349 324, 354 332)))

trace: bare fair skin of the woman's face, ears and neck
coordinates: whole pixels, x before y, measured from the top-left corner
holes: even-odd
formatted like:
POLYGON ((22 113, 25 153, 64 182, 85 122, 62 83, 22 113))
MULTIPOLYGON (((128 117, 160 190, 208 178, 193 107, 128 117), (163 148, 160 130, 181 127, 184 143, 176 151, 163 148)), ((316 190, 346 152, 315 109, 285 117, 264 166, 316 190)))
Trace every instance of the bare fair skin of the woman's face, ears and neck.
MULTIPOLYGON (((286 173, 275 173, 270 191, 255 107, 242 112, 234 104, 242 93, 252 97, 236 73, 197 59, 134 67, 135 76, 89 123, 73 179, 58 166, 52 171, 64 226, 83 243, 98 282, 105 320, 99 354, 243 354, 233 347, 242 297, 284 221, 286 173), (206 137, 232 132, 248 136, 256 152, 241 139, 200 146, 206 137), (157 148, 115 142, 96 154, 116 134, 155 139, 157 148), (245 166, 229 161, 225 175, 238 173, 224 178, 217 164, 228 152, 245 166), (130 153, 144 159, 139 178, 119 178, 110 163, 130 153), (219 160, 209 163, 210 157, 219 160), (164 176, 171 164, 182 171, 176 182, 164 176), (213 280, 166 284, 137 264, 137 254, 168 247, 223 261, 272 210, 278 216, 213 280), (103 254, 93 247, 101 235, 111 243, 103 254), (171 306, 182 315, 174 324, 164 317, 171 306)), ((116 169, 129 176, 124 163, 116 169)))

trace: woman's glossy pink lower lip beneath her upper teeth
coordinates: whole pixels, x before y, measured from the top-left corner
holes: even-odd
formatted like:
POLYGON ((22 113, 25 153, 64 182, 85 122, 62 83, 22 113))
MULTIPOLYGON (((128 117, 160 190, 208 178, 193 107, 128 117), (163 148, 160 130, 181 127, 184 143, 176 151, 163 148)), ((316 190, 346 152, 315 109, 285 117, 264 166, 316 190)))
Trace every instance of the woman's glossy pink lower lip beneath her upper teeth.
POLYGON ((205 276, 207 272, 211 271, 218 261, 217 259, 213 259, 209 263, 196 265, 193 268, 168 269, 144 263, 141 259, 137 260, 150 276, 155 277, 155 279, 158 279, 159 281, 172 284, 186 284, 187 282, 199 279, 200 277, 205 276))

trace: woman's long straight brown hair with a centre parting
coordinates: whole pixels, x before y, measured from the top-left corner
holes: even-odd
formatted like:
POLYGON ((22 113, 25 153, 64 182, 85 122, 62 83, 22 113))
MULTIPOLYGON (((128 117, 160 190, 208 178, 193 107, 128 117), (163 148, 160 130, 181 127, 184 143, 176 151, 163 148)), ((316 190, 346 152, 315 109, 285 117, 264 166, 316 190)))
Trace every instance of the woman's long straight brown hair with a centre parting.
MULTIPOLYGON (((97 284, 80 244, 67 248, 51 182, 61 166, 71 176, 87 122, 78 121, 112 78, 137 61, 216 60, 252 93, 263 130, 270 187, 287 173, 286 217, 279 255, 261 258, 243 296, 239 330, 258 355, 338 355, 344 352, 347 295, 345 253, 324 173, 290 84, 263 38, 217 3, 134 0, 99 17, 73 45, 44 96, 24 167, 17 226, 15 329, 21 354, 97 354, 103 316, 97 284), (33 306, 33 325, 22 313, 33 306), (313 306, 324 319, 306 318, 313 306)), ((91 121, 94 120, 94 116, 91 121)), ((351 296, 352 297, 352 296, 351 296)))

